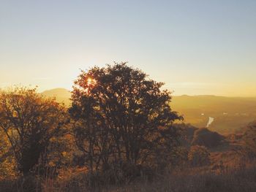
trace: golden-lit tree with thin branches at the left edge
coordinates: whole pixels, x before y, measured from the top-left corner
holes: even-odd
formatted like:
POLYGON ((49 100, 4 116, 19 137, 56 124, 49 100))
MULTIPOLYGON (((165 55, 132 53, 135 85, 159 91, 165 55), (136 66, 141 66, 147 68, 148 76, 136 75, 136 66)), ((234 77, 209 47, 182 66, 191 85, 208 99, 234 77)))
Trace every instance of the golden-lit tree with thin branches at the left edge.
POLYGON ((0 95, 0 128, 23 174, 38 163, 64 120, 64 107, 39 95, 36 89, 18 87, 0 95))

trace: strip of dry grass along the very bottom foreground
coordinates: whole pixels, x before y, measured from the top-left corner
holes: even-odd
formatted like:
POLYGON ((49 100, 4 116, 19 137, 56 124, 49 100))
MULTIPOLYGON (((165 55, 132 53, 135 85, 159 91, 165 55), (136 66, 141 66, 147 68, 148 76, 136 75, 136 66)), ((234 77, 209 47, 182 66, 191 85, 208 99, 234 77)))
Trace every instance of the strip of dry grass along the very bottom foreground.
MULTIPOLYGON (((186 170, 184 170, 186 172, 186 170)), ((28 177, 25 180, 1 181, 1 192, 84 192, 84 191, 104 191, 104 192, 255 192, 256 191, 256 166, 252 165, 236 169, 222 174, 205 172, 202 174, 165 174, 158 176, 154 182, 145 178, 138 178, 132 183, 122 185, 97 185, 89 188, 89 177, 80 174, 69 177, 69 180, 36 180, 28 177), (40 183, 39 183, 40 182, 40 183)))

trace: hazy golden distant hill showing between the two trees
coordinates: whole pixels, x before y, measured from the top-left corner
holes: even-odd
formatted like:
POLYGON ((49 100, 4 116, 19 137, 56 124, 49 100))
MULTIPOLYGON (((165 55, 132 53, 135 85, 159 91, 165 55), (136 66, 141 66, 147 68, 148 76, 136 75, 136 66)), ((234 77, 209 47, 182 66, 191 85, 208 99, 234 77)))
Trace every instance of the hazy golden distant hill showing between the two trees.
POLYGON ((64 104, 66 104, 67 106, 71 104, 71 101, 70 101, 71 93, 67 89, 54 88, 51 90, 43 91, 41 94, 43 96, 56 97, 56 101, 64 102, 64 104))

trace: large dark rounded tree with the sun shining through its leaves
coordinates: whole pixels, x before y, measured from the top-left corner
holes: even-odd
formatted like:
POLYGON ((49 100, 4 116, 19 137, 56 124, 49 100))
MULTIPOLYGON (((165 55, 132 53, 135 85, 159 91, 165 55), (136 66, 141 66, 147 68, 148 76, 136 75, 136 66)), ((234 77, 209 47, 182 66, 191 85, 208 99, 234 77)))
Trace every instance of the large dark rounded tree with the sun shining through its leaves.
POLYGON ((75 141, 91 165, 144 164, 159 148, 172 149, 178 138, 173 122, 181 116, 170 109, 162 85, 126 63, 81 72, 69 112, 75 141))

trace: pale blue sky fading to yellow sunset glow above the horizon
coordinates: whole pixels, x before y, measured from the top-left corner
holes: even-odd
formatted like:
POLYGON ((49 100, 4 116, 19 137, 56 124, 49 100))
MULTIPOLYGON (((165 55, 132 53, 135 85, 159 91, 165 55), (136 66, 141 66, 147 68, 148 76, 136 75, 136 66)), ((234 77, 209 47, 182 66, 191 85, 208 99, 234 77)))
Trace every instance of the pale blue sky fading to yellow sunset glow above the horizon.
POLYGON ((128 61, 174 95, 256 96, 256 1, 0 0, 0 88, 128 61))

